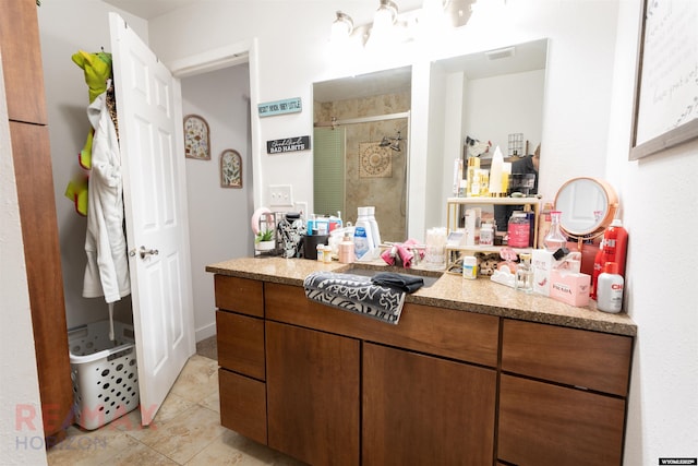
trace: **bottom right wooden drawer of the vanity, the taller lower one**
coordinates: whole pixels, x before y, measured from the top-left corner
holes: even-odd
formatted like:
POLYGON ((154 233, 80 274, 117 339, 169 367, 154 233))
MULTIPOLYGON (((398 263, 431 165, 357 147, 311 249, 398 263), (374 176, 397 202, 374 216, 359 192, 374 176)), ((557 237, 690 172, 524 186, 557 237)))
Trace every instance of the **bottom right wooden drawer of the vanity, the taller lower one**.
POLYGON ((619 465, 625 402, 502 375, 497 458, 517 465, 619 465))

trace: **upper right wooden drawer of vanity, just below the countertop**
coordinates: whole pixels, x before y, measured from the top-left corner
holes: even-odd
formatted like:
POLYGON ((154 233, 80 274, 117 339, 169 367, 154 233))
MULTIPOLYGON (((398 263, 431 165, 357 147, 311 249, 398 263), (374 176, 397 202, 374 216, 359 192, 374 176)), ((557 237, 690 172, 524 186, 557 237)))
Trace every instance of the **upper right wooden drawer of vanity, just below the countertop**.
POLYGON ((502 370, 626 396, 633 338, 504 321, 502 370))

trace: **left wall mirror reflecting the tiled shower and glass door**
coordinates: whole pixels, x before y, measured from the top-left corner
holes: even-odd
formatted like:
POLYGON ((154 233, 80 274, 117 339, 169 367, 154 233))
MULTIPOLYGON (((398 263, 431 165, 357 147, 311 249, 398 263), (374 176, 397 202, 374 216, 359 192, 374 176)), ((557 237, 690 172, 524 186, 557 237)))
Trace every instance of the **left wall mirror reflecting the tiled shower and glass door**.
POLYGON ((407 231, 411 67, 313 85, 313 205, 316 214, 375 206, 384 241, 407 231))

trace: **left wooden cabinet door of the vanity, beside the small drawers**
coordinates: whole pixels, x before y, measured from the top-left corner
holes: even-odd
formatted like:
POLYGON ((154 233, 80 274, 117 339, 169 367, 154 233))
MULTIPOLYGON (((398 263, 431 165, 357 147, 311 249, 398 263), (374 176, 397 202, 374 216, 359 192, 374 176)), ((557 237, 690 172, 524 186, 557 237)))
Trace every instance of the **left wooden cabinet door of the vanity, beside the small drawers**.
POLYGON ((266 365, 269 446, 358 465, 359 340, 267 321, 266 365))

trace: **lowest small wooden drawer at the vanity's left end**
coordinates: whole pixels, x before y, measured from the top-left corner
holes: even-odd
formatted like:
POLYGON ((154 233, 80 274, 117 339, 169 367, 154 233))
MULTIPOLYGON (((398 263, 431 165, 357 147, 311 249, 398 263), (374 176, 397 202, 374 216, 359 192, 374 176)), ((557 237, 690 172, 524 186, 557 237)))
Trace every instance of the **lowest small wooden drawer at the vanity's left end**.
POLYGON ((266 445, 266 385, 218 369, 220 423, 266 445))

